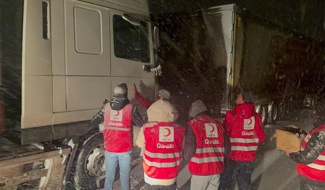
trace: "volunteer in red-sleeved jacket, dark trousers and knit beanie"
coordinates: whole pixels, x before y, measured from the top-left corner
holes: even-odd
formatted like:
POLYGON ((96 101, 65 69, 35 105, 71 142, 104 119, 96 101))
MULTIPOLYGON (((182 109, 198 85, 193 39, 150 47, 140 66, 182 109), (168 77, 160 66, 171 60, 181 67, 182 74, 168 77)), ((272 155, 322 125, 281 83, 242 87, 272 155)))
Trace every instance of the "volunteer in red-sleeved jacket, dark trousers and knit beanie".
POLYGON ((258 144, 265 140, 261 116, 255 112, 254 92, 242 92, 237 95, 234 110, 225 115, 225 130, 229 136, 231 150, 225 161, 219 189, 249 189, 253 161, 258 144))

